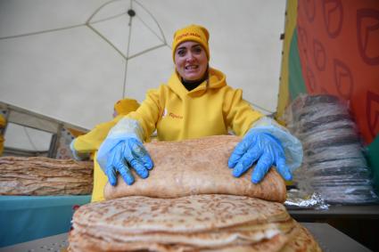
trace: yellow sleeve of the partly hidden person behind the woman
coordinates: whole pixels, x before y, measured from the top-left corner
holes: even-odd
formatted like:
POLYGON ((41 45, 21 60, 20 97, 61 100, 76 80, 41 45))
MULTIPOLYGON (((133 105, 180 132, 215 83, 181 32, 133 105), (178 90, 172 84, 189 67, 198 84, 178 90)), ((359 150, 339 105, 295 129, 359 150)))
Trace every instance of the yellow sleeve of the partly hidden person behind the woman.
POLYGON ((98 150, 108 132, 111 130, 111 127, 115 126, 120 118, 122 118, 122 116, 116 117, 109 122, 99 124, 87 134, 78 136, 74 142, 75 150, 79 153, 88 153, 98 150))

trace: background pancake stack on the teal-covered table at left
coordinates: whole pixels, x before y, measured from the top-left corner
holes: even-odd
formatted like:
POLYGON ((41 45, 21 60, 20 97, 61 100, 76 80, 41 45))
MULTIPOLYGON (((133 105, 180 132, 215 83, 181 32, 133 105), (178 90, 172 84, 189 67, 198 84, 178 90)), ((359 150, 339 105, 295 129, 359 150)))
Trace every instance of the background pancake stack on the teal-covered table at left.
POLYGON ((0 195, 89 194, 94 165, 89 161, 44 157, 0 158, 0 195))

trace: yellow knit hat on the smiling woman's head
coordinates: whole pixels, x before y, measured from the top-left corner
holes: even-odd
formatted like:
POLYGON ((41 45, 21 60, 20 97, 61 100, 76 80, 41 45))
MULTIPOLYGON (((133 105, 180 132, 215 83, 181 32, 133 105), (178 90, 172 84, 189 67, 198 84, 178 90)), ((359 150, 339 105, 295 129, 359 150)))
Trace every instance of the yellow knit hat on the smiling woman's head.
POLYGON ((175 50, 177 45, 185 41, 195 41, 200 43, 207 53, 208 61, 210 60, 210 46, 208 40, 210 33, 206 28, 199 25, 190 25, 185 28, 180 28, 174 33, 174 40, 172 41, 172 59, 175 62, 175 50))

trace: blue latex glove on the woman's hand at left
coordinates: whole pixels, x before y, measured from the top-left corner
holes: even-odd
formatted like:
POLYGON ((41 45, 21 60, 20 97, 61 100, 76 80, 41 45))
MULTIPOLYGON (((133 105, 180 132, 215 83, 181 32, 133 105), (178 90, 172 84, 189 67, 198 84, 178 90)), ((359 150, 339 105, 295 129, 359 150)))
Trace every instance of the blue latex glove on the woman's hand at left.
POLYGON ((128 137, 119 141, 110 151, 105 167, 105 175, 111 185, 117 183, 117 173, 129 185, 135 182, 130 168, 136 171, 141 178, 149 176, 148 170, 152 169, 152 159, 142 142, 134 137, 128 137))

